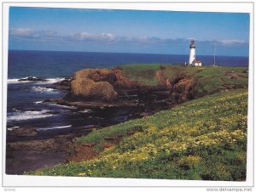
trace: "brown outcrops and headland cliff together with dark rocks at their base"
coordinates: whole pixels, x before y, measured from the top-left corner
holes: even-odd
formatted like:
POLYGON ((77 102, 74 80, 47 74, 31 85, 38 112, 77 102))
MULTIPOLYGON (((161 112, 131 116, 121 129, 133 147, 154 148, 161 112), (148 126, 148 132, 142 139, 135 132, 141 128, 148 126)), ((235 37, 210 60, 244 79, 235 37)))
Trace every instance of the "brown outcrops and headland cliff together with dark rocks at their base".
MULTIPOLYGON (((45 102, 84 107, 84 105, 98 106, 99 104, 103 104, 102 102, 108 105, 109 103, 113 104, 114 101, 118 106, 123 106, 124 104, 129 106, 132 104, 133 106, 136 104, 140 108, 143 108, 142 103, 148 102, 148 95, 139 100, 131 99, 132 102, 130 102, 127 100, 130 97, 130 93, 137 94, 146 91, 159 95, 162 92, 166 92, 168 94, 165 94, 162 100, 166 100, 165 102, 171 105, 179 104, 196 97, 195 87, 197 78, 184 72, 179 72, 175 76, 172 76, 172 78, 168 78, 165 76, 164 70, 165 68, 162 67, 154 73, 158 81, 157 86, 147 87, 140 82, 131 81, 128 76, 125 76, 125 71, 119 67, 114 69, 84 69, 77 71, 73 78, 68 78, 65 82, 56 83, 56 85, 67 88, 66 90, 69 91, 63 99, 57 101, 46 100, 45 102), (124 93, 128 94, 125 95, 124 93)), ((152 103, 154 101, 151 100, 150 102, 152 103)))

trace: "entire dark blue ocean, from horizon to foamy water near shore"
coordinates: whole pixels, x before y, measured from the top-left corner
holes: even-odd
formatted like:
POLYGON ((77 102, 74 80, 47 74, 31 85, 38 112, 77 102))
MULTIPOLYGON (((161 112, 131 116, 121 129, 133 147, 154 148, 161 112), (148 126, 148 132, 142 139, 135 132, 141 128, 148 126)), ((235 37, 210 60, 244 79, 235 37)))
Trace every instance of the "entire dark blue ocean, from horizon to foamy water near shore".
MULTIPOLYGON (((44 99, 62 98, 66 92, 56 90, 54 82, 73 76, 84 68, 109 68, 130 64, 184 64, 189 55, 175 54, 113 54, 55 51, 9 51, 7 128, 36 127, 41 134, 69 133, 76 127, 101 126, 99 120, 126 121, 122 111, 101 113, 79 111, 74 107, 46 104, 44 99), (46 78, 48 82, 19 82, 26 76, 46 78), (106 114, 106 116, 104 115, 106 114), (91 120, 95 119, 95 121, 91 120)), ((212 65, 213 56, 198 55, 203 65, 212 65)), ((216 56, 218 65, 248 66, 247 57, 216 56)))

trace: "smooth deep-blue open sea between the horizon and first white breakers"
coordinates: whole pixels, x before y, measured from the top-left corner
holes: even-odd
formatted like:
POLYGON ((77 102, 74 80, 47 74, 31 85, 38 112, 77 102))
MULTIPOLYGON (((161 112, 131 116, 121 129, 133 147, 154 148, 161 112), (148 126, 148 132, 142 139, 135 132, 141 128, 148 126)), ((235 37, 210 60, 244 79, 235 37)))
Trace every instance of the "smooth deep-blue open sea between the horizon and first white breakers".
MULTIPOLYGON (((114 67, 129 64, 184 64, 189 55, 113 54, 56 51, 9 51, 8 78, 24 76, 67 77, 84 68, 114 67)), ((203 65, 212 65, 213 56, 198 55, 203 65)), ((216 56, 218 65, 247 66, 247 57, 216 56)))

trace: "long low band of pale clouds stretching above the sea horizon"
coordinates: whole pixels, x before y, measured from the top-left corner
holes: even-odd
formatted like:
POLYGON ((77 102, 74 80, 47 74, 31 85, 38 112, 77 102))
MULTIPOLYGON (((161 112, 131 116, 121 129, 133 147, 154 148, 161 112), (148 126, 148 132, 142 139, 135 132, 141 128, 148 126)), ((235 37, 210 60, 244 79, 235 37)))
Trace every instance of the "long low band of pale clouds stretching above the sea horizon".
POLYGON ((111 42, 111 43, 136 43, 143 45, 162 45, 166 47, 189 46, 189 42, 194 39, 196 45, 200 47, 240 47, 247 45, 247 42, 240 39, 224 39, 224 40, 199 40, 194 37, 184 38, 160 38, 160 37, 122 37, 112 33, 90 33, 86 31, 73 34, 61 35, 57 31, 49 30, 33 30, 30 28, 16 28, 9 31, 11 37, 22 38, 27 40, 38 41, 69 41, 69 42, 111 42))

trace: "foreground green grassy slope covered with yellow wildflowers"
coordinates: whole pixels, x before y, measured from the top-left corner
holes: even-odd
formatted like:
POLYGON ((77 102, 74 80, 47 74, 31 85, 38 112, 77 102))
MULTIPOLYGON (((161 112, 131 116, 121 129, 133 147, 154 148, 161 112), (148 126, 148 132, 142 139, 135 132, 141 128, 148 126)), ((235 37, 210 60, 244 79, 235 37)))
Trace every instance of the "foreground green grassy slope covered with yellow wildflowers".
POLYGON ((247 89, 214 93, 172 110, 97 130, 77 142, 95 143, 103 150, 104 138, 117 135, 119 144, 96 159, 27 174, 245 180, 247 89), (131 131, 135 133, 128 135, 131 131))

